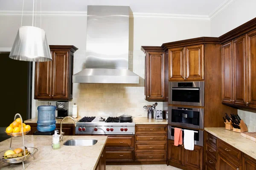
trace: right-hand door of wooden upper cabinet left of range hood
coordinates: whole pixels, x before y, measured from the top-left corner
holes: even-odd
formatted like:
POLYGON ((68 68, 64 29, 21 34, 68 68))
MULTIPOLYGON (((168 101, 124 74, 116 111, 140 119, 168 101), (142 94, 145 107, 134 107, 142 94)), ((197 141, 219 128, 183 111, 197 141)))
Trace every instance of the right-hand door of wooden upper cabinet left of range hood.
POLYGON ((68 98, 69 57, 67 51, 52 51, 52 95, 54 99, 68 98))

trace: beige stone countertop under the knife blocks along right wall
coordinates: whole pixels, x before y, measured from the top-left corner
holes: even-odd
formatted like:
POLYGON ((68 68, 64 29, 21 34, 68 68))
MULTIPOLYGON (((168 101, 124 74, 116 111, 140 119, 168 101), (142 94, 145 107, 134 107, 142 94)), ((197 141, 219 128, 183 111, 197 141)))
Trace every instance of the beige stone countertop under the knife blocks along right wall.
POLYGON ((225 130, 224 127, 204 127, 204 130, 256 159, 256 142, 241 136, 240 133, 225 130))

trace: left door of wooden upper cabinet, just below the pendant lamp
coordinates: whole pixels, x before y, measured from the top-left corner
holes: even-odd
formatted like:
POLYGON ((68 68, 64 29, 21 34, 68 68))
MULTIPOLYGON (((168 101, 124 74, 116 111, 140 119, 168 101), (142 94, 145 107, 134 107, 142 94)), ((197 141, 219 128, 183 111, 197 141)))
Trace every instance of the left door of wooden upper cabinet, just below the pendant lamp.
POLYGON ((35 62, 35 99, 51 98, 52 62, 35 62))

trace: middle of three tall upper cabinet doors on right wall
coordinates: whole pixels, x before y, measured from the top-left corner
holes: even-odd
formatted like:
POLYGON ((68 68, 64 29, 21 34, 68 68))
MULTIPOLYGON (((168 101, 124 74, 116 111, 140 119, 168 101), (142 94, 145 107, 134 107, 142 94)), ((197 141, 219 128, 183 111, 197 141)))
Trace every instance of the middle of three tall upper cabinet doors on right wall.
POLYGON ((245 36, 233 40, 234 57, 234 104, 246 105, 246 62, 245 36))

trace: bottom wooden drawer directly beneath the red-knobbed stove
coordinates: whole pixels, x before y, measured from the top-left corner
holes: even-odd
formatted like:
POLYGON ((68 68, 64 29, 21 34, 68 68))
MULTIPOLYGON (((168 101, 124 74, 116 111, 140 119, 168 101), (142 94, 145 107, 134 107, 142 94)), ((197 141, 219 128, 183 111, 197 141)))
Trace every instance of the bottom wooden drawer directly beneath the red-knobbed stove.
POLYGON ((133 151, 107 151, 106 161, 132 161, 133 151))

